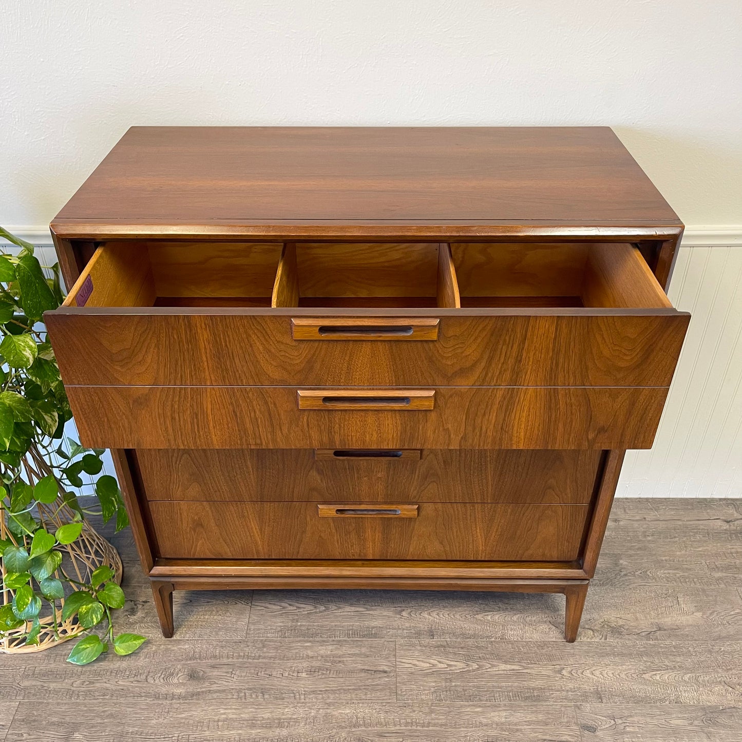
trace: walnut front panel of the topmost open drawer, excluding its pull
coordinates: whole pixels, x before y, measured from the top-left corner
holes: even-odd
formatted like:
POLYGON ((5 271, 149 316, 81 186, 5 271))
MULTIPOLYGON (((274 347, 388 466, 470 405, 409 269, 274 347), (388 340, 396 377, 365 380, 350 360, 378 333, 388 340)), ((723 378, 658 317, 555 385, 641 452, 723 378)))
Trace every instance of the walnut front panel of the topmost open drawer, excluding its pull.
POLYGON ((436 340, 295 340, 301 311, 70 308, 45 320, 67 385, 401 387, 667 386, 689 321, 674 309, 444 309, 401 315, 439 319, 436 340))

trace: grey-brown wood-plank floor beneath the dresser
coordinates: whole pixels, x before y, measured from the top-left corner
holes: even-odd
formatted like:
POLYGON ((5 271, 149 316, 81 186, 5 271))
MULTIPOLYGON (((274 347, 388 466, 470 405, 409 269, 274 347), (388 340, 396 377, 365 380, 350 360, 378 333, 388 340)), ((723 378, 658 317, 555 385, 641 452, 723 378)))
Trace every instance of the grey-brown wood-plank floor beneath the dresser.
POLYGON ((577 643, 555 595, 175 594, 160 636, 129 533, 118 630, 0 655, 0 741, 742 741, 742 501, 620 500, 577 643))

